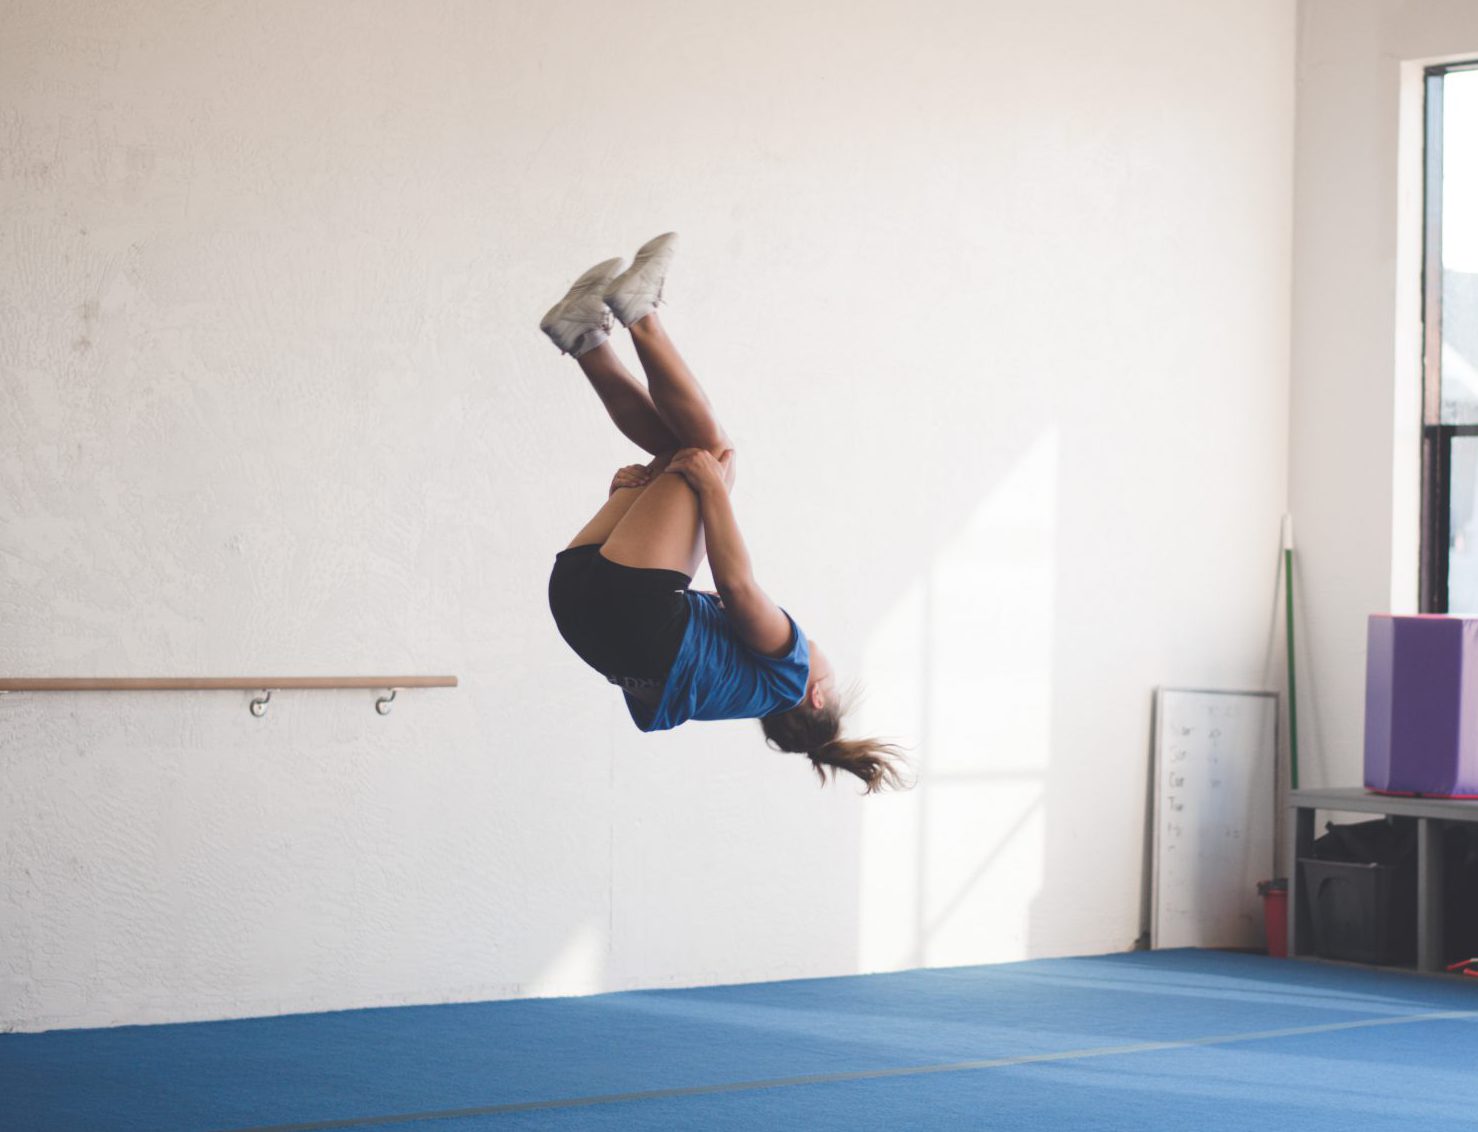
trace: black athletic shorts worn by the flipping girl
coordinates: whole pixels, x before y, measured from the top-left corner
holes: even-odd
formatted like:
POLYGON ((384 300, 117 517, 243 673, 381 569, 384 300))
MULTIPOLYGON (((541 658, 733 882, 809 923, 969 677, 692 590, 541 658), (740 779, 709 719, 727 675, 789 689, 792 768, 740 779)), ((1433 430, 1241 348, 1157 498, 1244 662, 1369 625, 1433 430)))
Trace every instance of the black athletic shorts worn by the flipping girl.
POLYGON ((622 566, 588 544, 554 556, 550 612, 581 661, 643 699, 661 695, 687 631, 681 570, 622 566))

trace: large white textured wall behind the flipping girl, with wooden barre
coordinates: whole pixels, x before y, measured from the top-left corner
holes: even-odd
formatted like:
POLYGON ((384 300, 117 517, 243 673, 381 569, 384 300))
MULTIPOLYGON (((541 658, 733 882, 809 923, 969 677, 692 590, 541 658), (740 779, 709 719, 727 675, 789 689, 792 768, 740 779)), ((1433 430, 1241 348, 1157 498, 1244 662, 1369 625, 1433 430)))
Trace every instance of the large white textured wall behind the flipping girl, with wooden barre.
POLYGON ((1277 683, 1289 3, 0 15, 0 671, 463 678, 0 699, 0 1026, 1134 943, 1151 689, 1277 683), (909 795, 548 619, 636 454, 535 319, 667 228, 909 795))

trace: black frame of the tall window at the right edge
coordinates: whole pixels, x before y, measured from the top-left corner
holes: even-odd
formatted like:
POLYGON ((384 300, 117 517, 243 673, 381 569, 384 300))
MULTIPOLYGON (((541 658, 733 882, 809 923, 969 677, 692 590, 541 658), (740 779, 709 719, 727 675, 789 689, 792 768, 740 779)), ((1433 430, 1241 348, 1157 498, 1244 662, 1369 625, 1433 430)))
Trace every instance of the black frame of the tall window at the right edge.
POLYGON ((1453 439, 1478 424, 1443 424, 1443 83, 1478 59, 1422 72, 1422 582, 1420 610, 1445 613, 1451 550, 1453 439))

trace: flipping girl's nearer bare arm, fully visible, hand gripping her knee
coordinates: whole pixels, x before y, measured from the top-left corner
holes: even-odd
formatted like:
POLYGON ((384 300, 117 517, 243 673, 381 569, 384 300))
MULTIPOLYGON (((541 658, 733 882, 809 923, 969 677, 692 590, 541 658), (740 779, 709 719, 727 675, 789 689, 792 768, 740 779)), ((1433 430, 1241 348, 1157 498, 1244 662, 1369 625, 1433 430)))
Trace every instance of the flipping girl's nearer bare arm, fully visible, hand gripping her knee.
MULTIPOLYGON (((724 457, 732 460, 727 452, 724 457)), ((743 544, 739 520, 729 499, 724 468, 726 464, 715 460, 708 449, 690 448, 678 452, 667 470, 683 476, 698 492, 698 505, 704 514, 704 536, 708 541, 708 565, 735 633, 745 644, 766 656, 785 656, 794 644, 791 622, 754 579, 749 550, 743 544)))

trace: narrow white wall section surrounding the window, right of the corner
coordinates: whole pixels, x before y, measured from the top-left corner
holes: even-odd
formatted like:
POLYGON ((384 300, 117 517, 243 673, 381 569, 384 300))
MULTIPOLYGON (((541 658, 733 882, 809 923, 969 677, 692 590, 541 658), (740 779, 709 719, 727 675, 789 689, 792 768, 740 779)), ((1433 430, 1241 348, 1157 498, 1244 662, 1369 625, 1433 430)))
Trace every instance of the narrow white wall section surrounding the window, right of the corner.
POLYGON ((1301 0, 1289 501, 1304 785, 1361 782, 1366 621, 1417 609, 1420 68, 1462 0, 1301 0))

